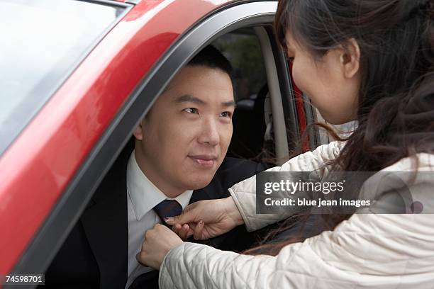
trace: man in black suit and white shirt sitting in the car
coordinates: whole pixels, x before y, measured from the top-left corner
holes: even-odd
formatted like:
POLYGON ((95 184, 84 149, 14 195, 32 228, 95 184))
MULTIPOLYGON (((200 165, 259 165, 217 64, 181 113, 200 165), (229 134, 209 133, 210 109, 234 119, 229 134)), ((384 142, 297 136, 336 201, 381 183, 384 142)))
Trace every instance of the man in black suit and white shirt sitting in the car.
POLYGON ((133 152, 124 149, 72 229, 45 273, 46 285, 155 288, 157 272, 135 259, 145 231, 164 223, 165 213, 226 197, 227 188, 265 169, 225 159, 235 108, 230 72, 210 46, 174 77, 134 130, 133 152))

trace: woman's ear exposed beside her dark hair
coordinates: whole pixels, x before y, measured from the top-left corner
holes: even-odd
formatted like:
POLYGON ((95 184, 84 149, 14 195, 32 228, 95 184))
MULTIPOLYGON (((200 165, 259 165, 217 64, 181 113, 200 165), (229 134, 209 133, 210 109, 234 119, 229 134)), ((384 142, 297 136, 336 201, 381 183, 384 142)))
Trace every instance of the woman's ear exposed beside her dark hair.
POLYGON ((360 69, 360 47, 354 38, 345 42, 345 48, 340 50, 340 64, 345 78, 354 77, 360 69))

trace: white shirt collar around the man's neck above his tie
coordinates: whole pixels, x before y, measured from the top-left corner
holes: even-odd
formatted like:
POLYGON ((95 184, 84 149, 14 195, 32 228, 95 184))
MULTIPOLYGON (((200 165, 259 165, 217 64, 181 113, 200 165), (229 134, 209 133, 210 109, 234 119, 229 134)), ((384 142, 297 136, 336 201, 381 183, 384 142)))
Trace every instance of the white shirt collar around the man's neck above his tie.
POLYGON ((146 176, 135 160, 135 151, 131 153, 127 166, 127 191, 133 204, 133 210, 137 220, 140 220, 147 212, 152 210, 163 200, 177 200, 184 210, 190 202, 192 190, 185 191, 176 198, 168 198, 146 176))

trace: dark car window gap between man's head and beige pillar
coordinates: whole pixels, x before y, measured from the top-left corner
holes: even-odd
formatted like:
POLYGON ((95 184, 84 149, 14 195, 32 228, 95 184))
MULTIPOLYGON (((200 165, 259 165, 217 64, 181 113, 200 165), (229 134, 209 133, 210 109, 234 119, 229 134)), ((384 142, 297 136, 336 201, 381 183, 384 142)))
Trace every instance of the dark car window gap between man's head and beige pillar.
POLYGON ((234 70, 237 107, 233 115, 233 137, 228 157, 265 162, 265 159, 272 157, 274 142, 265 142, 267 74, 255 30, 241 28, 222 35, 212 44, 228 57, 234 70))

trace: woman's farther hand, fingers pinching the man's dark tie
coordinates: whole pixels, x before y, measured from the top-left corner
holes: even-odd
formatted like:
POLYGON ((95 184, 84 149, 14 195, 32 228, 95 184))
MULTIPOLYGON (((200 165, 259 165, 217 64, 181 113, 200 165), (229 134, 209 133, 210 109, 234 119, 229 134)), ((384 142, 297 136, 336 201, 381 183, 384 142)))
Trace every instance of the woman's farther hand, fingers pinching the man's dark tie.
POLYGON ((193 236, 196 240, 217 237, 244 223, 232 197, 192 203, 165 222, 182 239, 193 236))

